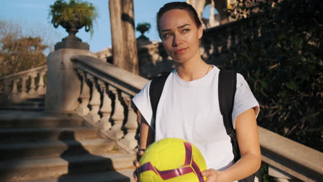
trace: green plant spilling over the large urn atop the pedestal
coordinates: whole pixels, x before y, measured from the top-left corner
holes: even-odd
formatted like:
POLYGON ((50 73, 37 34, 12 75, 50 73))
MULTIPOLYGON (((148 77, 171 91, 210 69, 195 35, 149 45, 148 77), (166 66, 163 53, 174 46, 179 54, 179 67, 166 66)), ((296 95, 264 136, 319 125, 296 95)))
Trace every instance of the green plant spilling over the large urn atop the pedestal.
POLYGON ((98 13, 92 3, 81 0, 57 0, 50 6, 49 17, 52 17, 51 23, 57 28, 62 21, 69 23, 79 21, 86 28, 86 32, 93 32, 93 21, 98 13))

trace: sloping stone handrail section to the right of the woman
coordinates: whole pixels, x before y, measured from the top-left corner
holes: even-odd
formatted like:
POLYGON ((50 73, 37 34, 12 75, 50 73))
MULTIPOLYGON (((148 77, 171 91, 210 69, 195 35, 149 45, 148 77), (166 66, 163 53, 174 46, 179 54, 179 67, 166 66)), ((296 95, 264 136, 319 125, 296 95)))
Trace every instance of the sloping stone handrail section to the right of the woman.
POLYGON ((302 181, 322 181, 322 152, 261 127, 259 133, 262 161, 271 166, 269 174, 280 174, 284 179, 295 177, 302 181))

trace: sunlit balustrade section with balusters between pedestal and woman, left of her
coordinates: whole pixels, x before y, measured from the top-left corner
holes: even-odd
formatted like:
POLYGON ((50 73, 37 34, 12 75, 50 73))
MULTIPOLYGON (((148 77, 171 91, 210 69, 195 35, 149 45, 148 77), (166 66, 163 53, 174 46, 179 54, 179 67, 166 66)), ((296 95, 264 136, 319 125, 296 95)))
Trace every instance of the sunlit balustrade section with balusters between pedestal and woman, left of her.
POLYGON ((77 114, 134 152, 139 122, 131 99, 148 80, 95 57, 75 56, 72 61, 81 82, 77 114))

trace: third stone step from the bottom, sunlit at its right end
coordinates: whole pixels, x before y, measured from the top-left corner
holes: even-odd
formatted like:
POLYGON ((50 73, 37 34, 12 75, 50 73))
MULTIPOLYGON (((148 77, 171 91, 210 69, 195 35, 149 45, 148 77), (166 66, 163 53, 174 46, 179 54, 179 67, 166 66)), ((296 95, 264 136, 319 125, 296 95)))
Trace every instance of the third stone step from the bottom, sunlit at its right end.
POLYGON ((115 143, 104 139, 0 143, 0 161, 89 153, 98 154, 111 152, 112 150, 117 150, 115 143))

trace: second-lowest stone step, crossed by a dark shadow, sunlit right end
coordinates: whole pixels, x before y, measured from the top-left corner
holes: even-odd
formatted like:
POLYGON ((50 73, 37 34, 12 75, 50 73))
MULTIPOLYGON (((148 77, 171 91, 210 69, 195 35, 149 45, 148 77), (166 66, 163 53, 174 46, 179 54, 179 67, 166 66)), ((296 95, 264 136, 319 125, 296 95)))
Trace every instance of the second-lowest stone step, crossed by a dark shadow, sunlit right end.
MULTIPOLYGON (((46 181, 61 179, 74 181, 72 179, 81 179, 82 176, 93 181, 88 173, 134 169, 134 159, 135 156, 129 154, 85 154, 63 158, 1 161, 0 181, 35 181, 46 177, 54 178, 46 181), (81 176, 75 176, 75 174, 81 176)), ((109 176, 119 179, 118 176, 109 176)))

